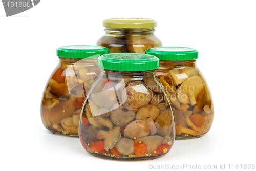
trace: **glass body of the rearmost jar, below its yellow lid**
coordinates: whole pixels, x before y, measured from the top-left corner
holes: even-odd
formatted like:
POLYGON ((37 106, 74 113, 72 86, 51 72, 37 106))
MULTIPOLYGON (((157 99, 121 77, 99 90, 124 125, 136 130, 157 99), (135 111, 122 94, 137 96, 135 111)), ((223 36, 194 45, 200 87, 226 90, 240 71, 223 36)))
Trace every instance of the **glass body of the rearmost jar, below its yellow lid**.
POLYGON ((110 53, 145 53, 149 48, 161 47, 162 42, 154 35, 155 29, 105 28, 105 34, 97 41, 98 46, 110 49, 110 53))

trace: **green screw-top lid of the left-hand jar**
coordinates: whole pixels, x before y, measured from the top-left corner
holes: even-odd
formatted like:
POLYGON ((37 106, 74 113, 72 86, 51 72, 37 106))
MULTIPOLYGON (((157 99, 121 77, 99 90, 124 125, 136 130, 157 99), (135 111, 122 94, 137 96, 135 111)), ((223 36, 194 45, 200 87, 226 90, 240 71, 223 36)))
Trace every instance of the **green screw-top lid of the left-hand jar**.
POLYGON ((57 56, 71 59, 98 58, 109 53, 109 51, 108 48, 103 46, 70 45, 59 47, 57 56))

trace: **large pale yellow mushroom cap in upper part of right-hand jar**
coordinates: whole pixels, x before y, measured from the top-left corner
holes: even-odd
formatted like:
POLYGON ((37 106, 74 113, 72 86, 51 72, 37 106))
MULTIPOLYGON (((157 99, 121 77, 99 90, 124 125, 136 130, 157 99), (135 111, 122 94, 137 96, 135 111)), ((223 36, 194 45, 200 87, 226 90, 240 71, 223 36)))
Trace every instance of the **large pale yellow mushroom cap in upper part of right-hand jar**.
POLYGON ((190 103, 188 92, 193 92, 194 97, 197 98, 201 90, 204 88, 203 79, 198 76, 191 76, 188 80, 184 81, 178 89, 178 99, 181 103, 190 103))

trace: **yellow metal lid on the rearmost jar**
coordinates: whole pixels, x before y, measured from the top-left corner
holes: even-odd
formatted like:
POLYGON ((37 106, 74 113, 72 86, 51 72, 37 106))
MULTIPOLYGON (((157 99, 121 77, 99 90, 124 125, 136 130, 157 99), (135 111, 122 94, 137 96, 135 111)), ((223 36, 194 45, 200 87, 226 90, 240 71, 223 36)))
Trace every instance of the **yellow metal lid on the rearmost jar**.
POLYGON ((103 20, 103 26, 121 29, 146 29, 157 27, 157 22, 150 18, 108 18, 103 20))

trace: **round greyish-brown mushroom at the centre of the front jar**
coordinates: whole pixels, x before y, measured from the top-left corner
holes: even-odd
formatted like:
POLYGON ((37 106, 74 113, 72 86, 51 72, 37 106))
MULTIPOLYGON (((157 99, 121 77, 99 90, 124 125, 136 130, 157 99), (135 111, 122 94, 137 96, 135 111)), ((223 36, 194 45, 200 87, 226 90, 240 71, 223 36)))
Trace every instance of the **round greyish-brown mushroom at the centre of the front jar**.
POLYGON ((123 105, 120 106, 119 103, 114 104, 111 107, 111 115, 110 119, 111 121, 118 125, 118 126, 124 126, 130 123, 135 118, 135 112, 127 110, 124 108, 123 105))

